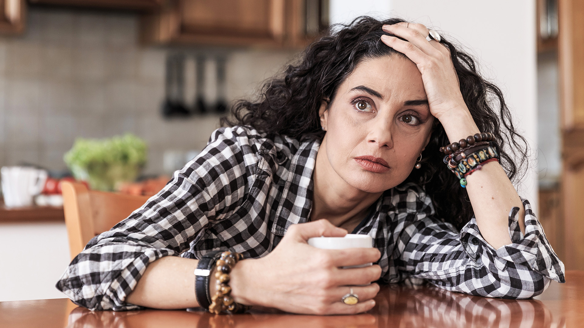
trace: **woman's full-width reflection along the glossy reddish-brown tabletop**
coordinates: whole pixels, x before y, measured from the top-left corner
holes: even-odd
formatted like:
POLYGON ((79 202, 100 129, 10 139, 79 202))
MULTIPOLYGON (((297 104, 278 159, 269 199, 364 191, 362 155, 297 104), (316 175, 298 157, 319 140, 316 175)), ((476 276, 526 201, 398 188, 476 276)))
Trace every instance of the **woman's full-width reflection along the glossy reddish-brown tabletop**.
POLYGON ((215 316, 185 310, 128 312, 75 308, 68 327, 565 327, 534 299, 493 299, 448 292, 435 287, 383 287, 377 306, 355 316, 291 315, 270 309, 254 309, 244 315, 215 316))

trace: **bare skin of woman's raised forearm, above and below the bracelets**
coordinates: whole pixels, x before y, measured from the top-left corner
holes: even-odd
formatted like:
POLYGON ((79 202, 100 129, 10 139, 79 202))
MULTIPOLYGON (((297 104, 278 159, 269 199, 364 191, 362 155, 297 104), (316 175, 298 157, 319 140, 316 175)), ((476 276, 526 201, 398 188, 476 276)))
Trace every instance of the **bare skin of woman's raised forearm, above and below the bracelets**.
MULTIPOLYGON (((468 112, 468 109, 464 109, 468 112)), ((458 113, 464 111, 458 111, 458 113)), ((453 117, 440 118, 450 142, 474 135, 479 131, 477 125, 468 115, 456 114, 453 117)), ((525 210, 515 187, 509 181, 505 170, 496 162, 483 165, 466 177, 468 197, 477 218, 481 235, 495 249, 511 243, 509 236, 509 211, 519 207, 519 226, 525 232, 525 210)))

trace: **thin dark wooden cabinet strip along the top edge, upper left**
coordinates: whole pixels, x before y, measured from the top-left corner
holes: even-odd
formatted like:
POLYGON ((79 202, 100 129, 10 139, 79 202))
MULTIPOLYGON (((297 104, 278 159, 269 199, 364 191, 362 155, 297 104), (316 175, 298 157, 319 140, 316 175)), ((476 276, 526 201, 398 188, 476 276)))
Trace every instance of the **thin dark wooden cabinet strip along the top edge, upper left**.
POLYGON ((166 0, 29 0, 29 2, 40 5, 155 11, 160 9, 166 0))

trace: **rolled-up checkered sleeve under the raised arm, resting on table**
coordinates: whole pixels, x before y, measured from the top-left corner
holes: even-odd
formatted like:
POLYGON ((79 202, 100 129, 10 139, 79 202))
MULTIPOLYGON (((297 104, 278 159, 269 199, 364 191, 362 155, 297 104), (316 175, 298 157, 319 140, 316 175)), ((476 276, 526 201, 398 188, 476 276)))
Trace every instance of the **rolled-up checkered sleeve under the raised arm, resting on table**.
POLYGON ((475 218, 460 233, 432 217, 412 222, 405 228, 409 240, 401 253, 402 273, 450 291, 500 298, 530 298, 541 294, 550 280, 565 282, 564 264, 529 201, 522 201, 526 233, 519 229, 519 208, 512 208, 512 243, 499 249, 482 238, 475 218))

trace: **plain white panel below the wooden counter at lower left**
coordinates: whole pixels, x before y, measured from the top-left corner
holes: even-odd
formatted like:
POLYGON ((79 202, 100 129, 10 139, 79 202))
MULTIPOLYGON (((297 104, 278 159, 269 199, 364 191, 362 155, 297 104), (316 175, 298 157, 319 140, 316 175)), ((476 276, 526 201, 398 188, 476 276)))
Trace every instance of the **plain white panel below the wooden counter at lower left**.
POLYGON ((65 298, 55 283, 69 264, 64 223, 0 226, 0 302, 65 298))

